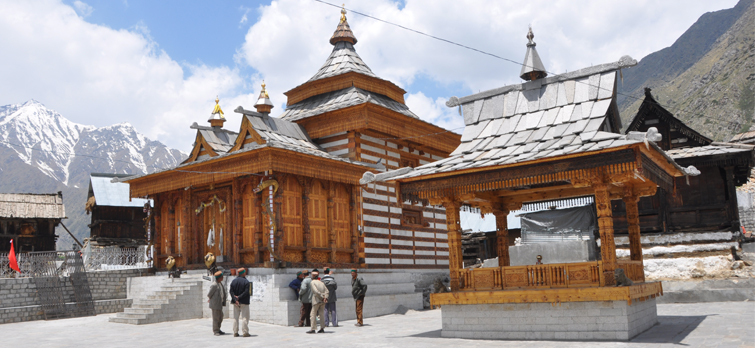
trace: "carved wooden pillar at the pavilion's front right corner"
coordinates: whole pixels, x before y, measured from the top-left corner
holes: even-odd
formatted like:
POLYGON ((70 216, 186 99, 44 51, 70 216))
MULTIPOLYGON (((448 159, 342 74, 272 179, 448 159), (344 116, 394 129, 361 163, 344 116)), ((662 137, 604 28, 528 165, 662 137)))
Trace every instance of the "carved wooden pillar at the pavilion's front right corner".
POLYGON ((598 228, 600 229, 600 256, 603 260, 603 278, 605 285, 614 285, 613 272, 616 269, 616 244, 613 241, 613 215, 608 185, 593 185, 595 189, 595 208, 598 211, 598 228))

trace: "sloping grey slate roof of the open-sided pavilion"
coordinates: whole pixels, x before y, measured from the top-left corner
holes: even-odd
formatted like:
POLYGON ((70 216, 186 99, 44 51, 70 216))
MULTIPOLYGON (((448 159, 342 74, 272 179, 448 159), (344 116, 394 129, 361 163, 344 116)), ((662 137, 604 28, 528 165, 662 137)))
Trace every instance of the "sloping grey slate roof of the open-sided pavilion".
POLYGON ((620 127, 619 118, 610 111, 616 71, 635 64, 626 57, 616 63, 452 98, 447 105, 461 105, 466 124, 459 147, 446 159, 391 180, 643 142, 636 136, 614 133, 620 127))

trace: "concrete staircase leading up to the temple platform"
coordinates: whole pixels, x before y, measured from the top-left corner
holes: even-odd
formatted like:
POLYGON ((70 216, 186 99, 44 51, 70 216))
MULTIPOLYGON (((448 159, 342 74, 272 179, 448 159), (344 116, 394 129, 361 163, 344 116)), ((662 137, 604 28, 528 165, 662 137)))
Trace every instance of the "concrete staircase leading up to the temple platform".
POLYGON ((174 279, 159 289, 134 299, 131 308, 124 309, 109 320, 122 324, 152 324, 164 321, 202 318, 202 278, 174 279))

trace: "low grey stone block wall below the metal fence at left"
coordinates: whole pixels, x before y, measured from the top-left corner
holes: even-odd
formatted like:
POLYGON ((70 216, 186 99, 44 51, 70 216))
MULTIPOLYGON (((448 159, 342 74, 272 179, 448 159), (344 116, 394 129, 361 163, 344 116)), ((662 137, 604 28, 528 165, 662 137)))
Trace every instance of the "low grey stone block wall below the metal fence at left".
MULTIPOLYGON (((97 314, 122 311, 131 305, 126 298, 129 278, 147 275, 144 269, 87 272, 89 289, 92 292, 97 314)), ((74 305, 73 286, 68 277, 60 278, 66 305, 74 305)), ((33 278, 0 279, 0 324, 42 320, 44 313, 37 296, 33 278)))

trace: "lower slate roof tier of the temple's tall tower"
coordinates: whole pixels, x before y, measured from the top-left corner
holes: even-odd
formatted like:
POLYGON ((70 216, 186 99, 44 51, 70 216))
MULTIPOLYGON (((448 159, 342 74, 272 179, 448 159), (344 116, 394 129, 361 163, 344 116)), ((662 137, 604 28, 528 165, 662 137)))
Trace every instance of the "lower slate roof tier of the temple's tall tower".
POLYGON ((286 108, 280 116, 287 121, 319 115, 328 111, 347 108, 354 105, 373 103, 412 118, 419 118, 409 107, 382 94, 373 93, 357 87, 344 88, 338 91, 320 94, 307 98, 286 108))

